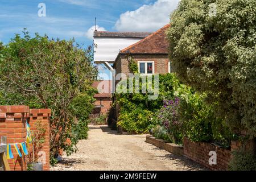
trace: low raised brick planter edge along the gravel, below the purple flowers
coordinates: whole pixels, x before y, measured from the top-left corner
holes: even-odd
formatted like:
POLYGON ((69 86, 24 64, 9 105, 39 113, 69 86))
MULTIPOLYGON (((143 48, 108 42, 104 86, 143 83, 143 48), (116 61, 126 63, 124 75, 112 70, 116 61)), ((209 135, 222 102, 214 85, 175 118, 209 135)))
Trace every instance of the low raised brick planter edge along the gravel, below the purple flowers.
POLYGON ((152 135, 146 136, 146 142, 156 147, 162 148, 163 150, 171 152, 172 154, 179 156, 183 155, 183 147, 178 146, 177 144, 174 143, 168 143, 165 140, 156 139, 155 137, 152 137, 152 135))

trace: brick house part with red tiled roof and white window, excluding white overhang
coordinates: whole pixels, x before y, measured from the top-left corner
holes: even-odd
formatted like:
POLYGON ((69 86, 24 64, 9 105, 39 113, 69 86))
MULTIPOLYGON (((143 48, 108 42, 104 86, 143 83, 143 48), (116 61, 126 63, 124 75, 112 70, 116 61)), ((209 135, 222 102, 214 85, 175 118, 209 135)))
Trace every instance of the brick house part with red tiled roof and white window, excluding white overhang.
POLYGON ((160 30, 140 40, 139 42, 122 49, 115 59, 114 68, 116 74, 128 75, 129 56, 134 58, 138 64, 139 73, 142 74, 163 74, 170 73, 170 61, 168 58, 168 42, 166 30, 170 27, 167 24, 160 30))

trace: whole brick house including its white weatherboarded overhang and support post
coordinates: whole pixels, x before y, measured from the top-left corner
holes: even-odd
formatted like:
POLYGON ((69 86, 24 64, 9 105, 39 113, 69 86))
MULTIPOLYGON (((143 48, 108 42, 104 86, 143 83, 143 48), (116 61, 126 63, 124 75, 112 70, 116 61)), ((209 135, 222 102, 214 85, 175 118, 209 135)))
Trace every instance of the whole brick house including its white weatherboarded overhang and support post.
MULTIPOLYGON (((169 27, 170 24, 167 24, 154 33, 94 31, 94 62, 105 64, 110 69, 113 78, 113 92, 118 83, 115 76, 119 73, 125 75, 131 73, 129 70, 130 56, 138 64, 138 70, 141 74, 171 72, 166 38, 166 31, 169 27)), ((115 121, 118 118, 118 113, 119 108, 116 105, 113 116, 115 121)))

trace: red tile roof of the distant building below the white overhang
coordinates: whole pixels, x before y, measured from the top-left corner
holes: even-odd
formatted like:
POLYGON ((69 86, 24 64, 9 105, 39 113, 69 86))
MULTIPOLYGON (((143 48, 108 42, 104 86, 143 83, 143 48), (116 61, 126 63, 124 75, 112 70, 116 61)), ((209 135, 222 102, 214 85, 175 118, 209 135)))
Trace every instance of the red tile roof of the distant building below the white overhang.
POLYGON ((111 80, 95 81, 92 84, 92 87, 95 89, 98 89, 99 84, 102 84, 102 87, 101 87, 102 93, 95 94, 94 98, 104 98, 104 97, 110 98, 110 97, 112 97, 112 94, 111 94, 112 81, 111 80), (105 89, 105 86, 107 86, 108 88, 105 89))

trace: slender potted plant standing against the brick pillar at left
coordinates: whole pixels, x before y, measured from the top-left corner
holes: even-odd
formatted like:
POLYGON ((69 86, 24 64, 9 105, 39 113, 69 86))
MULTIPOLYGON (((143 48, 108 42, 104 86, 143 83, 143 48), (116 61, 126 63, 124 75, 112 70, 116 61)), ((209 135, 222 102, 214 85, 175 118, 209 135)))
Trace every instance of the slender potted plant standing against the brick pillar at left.
POLYGON ((39 161, 38 152, 45 142, 46 129, 40 121, 35 123, 36 130, 32 132, 32 156, 30 155, 28 162, 28 171, 43 171, 43 163, 39 161))

